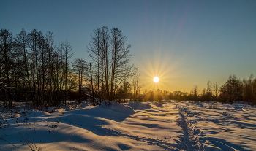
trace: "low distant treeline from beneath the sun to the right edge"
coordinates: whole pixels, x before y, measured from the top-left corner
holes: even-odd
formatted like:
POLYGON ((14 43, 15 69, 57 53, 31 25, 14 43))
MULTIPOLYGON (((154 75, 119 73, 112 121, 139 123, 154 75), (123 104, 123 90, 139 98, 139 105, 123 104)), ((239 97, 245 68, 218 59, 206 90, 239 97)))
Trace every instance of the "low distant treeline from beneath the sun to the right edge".
POLYGON ((192 100, 192 101, 221 101, 222 103, 233 103, 234 101, 247 101, 256 103, 256 79, 253 75, 249 79, 240 80, 233 75, 228 77, 225 84, 219 86, 214 85, 208 81, 206 88, 199 90, 197 85, 192 87, 188 92, 162 90, 149 90, 144 92, 144 101, 157 101, 162 99, 174 99, 178 101, 192 100))

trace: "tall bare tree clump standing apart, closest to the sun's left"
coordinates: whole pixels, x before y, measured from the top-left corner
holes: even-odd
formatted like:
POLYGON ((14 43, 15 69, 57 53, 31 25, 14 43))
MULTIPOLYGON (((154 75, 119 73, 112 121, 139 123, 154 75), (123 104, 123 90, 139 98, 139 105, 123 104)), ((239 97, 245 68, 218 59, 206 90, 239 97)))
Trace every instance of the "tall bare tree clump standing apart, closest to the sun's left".
POLYGON ((135 76, 136 68, 129 66, 129 48, 125 46, 126 37, 118 28, 108 31, 108 27, 97 28, 91 35, 89 56, 94 62, 96 69, 94 83, 99 98, 115 99, 116 91, 122 82, 135 76))

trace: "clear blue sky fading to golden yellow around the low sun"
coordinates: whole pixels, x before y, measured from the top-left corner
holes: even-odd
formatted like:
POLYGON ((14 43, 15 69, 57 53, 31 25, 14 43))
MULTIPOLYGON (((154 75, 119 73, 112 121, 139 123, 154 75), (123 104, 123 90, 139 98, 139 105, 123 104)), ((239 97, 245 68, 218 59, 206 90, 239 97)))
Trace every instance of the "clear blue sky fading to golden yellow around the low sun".
POLYGON ((256 1, 5 1, 0 28, 52 31, 67 40, 72 59, 90 62, 86 46, 97 28, 118 28, 131 44, 143 90, 190 92, 230 75, 256 77, 256 1), (159 77, 154 83, 153 78, 159 77))

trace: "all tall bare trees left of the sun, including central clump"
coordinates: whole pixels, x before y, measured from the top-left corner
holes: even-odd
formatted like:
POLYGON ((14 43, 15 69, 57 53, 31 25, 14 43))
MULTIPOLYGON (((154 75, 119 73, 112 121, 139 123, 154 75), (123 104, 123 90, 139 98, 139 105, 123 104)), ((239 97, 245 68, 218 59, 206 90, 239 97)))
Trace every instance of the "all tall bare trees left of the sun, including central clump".
MULTIPOLYGON (((54 45, 53 32, 43 34, 24 29, 16 36, 7 29, 0 32, 0 101, 12 107, 13 101, 29 101, 35 107, 57 106, 67 100, 81 101, 82 88, 89 87, 92 100, 115 100, 121 83, 135 77, 129 66, 130 45, 118 28, 97 28, 87 47, 91 63, 76 58, 66 40, 54 45)), ((86 48, 85 48, 86 50, 86 48)))

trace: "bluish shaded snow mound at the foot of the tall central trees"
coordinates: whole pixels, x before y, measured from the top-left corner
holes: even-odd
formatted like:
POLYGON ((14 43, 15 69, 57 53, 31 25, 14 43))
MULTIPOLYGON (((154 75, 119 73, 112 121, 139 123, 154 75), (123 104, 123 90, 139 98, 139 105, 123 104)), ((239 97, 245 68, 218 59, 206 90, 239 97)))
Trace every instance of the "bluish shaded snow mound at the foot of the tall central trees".
POLYGON ((130 115, 135 113, 135 111, 132 109, 132 107, 129 107, 124 104, 119 104, 116 101, 102 101, 102 104, 100 105, 100 107, 103 107, 106 109, 111 109, 116 112, 130 114, 130 115))

